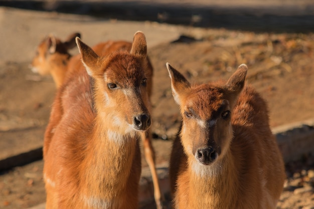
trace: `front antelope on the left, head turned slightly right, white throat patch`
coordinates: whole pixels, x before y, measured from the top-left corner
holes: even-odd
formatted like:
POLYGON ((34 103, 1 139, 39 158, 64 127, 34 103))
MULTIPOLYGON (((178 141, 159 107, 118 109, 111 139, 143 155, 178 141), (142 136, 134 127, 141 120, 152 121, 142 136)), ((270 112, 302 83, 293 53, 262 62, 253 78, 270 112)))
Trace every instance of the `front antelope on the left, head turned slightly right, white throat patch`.
POLYGON ((139 138, 150 124, 146 41, 98 56, 76 38, 83 66, 58 89, 44 140, 46 208, 137 208, 139 138))

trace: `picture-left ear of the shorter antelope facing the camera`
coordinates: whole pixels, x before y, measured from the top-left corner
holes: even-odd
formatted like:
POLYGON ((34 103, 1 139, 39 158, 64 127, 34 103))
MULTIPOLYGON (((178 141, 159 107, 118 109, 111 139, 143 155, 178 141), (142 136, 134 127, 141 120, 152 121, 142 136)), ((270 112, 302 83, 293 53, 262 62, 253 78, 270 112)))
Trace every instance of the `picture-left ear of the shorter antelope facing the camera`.
POLYGON ((191 87, 189 81, 179 71, 174 69, 169 63, 166 63, 168 73, 171 79, 171 90, 175 101, 180 105, 181 98, 187 89, 191 87))

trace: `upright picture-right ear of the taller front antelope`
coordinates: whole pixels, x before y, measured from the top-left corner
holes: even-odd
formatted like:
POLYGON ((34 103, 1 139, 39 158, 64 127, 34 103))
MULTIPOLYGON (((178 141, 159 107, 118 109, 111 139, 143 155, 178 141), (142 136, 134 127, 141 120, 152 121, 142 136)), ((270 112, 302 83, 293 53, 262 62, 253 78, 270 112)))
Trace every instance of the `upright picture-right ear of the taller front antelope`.
POLYGON ((147 45, 145 35, 141 31, 137 31, 133 37, 132 48, 130 54, 146 58, 147 45))

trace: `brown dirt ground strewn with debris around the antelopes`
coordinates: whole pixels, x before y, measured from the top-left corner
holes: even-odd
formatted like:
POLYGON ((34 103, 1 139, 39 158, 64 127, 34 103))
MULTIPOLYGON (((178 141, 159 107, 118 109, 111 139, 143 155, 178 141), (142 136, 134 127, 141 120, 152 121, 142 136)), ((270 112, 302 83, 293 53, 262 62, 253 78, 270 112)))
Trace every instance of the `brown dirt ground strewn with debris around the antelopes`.
MULTIPOLYGON (((227 79, 245 63, 249 69, 247 82, 268 102, 271 127, 314 117, 313 34, 209 30, 203 37, 189 34, 149 48, 148 54, 154 67, 152 131, 157 163, 169 159, 181 120, 166 62, 192 82, 227 79)), ((33 74, 29 63, 0 64, 0 122, 10 119, 25 124, 10 131, 0 130, 0 137, 19 137, 29 130, 29 138, 43 134, 55 93, 52 79, 33 74)), ((42 167, 43 162, 36 161, 3 172, 0 208, 27 208, 44 202, 42 167)), ((288 178, 277 208, 314 208, 313 157, 306 155, 288 163, 286 169, 288 178)))

